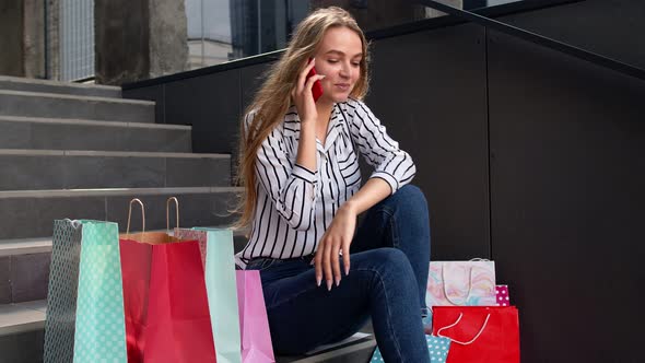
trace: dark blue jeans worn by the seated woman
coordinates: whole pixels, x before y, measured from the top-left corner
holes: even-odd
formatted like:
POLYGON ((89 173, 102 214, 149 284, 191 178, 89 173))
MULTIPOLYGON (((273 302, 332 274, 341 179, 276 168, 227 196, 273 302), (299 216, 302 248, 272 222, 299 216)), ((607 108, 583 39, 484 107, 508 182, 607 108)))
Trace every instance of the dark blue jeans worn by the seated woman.
POLYGON ((372 207, 351 251, 350 273, 331 291, 316 285, 313 256, 248 264, 260 270, 275 352, 302 354, 345 339, 372 317, 386 362, 430 362, 421 321, 430 261, 423 192, 406 185, 372 207))

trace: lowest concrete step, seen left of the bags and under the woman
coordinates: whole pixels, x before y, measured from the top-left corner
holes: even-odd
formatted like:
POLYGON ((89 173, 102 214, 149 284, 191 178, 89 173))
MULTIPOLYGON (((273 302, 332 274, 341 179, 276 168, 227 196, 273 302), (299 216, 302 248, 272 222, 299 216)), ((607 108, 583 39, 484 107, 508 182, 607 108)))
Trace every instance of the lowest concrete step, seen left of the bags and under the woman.
MULTIPOLYGON (((43 360, 47 301, 0 305, 2 362, 43 360)), ((275 356, 277 363, 367 363, 376 348, 373 336, 306 356, 275 356)))

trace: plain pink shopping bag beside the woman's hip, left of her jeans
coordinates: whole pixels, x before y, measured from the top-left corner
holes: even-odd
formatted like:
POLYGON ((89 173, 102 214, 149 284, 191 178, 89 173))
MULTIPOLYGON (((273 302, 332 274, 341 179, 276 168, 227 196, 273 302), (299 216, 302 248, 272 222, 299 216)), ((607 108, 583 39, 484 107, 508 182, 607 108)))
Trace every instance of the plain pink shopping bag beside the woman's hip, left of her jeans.
POLYGON ((273 363, 275 358, 271 344, 260 272, 237 270, 235 273, 242 332, 242 362, 273 363))

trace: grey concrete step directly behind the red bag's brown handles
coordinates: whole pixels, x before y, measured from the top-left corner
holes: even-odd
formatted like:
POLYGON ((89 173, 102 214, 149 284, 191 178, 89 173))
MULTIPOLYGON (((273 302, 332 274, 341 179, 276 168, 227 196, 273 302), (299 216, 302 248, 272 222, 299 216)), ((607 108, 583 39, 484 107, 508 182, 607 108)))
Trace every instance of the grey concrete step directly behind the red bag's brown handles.
MULTIPOLYGON (((125 232, 132 198, 145 203, 146 230, 166 227, 166 199, 173 196, 179 200, 181 226, 224 226, 236 219, 227 211, 239 191, 237 187, 0 191, 0 239, 51 236, 54 220, 66 218, 113 221, 125 232)), ((140 230, 140 215, 133 211, 132 230, 140 230)))

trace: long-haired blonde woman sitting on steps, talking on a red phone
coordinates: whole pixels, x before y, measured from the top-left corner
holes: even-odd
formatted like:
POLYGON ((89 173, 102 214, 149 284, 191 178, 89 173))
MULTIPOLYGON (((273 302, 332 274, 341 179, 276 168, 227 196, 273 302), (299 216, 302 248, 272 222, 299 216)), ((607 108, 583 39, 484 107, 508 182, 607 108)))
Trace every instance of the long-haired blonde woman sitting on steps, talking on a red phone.
POLYGON ((303 20, 242 125, 238 226, 251 232, 236 257, 260 270, 277 353, 345 339, 372 318, 386 361, 429 362, 427 204, 409 184, 412 159, 361 101, 367 86, 355 20, 339 8, 303 20), (374 166, 362 187, 360 154, 374 166))

